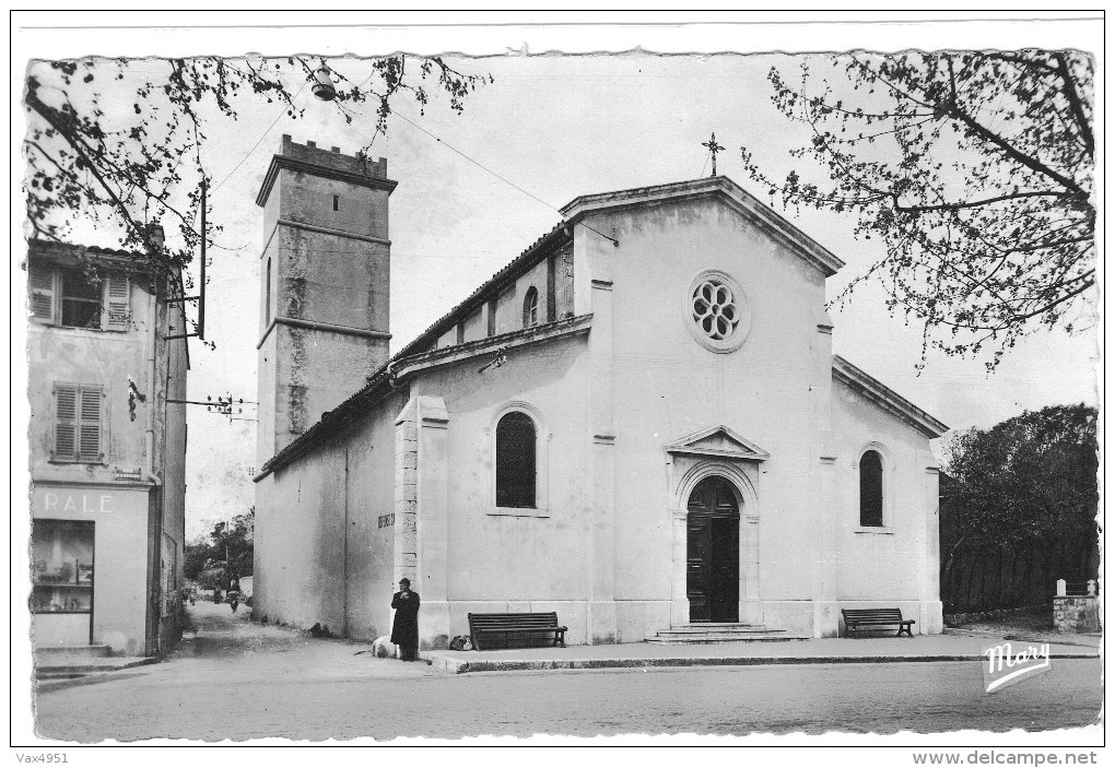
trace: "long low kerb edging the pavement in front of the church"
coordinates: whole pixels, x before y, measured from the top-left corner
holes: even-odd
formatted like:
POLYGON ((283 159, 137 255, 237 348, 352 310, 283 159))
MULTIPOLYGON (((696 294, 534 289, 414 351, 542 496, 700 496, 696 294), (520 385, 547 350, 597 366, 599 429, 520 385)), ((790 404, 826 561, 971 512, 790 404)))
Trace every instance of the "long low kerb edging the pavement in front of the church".
MULTIPOLYGON (((449 674, 468 672, 543 672, 552 670, 649 669, 656 667, 773 667, 792 664, 898 664, 941 661, 983 661, 982 654, 874 657, 673 657, 647 659, 458 659, 427 651, 433 668, 449 674)), ((1050 659, 1098 659, 1096 653, 1054 653, 1050 659)))

